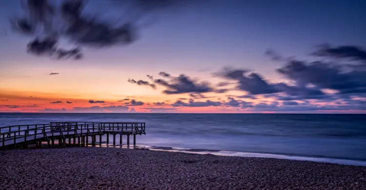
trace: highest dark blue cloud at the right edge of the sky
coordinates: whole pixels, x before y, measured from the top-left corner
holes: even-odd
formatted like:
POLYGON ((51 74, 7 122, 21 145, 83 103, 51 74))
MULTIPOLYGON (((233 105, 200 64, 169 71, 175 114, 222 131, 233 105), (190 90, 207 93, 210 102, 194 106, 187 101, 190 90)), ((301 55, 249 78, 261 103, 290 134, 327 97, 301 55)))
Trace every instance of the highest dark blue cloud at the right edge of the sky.
POLYGON ((353 45, 332 46, 328 43, 316 46, 313 56, 366 62, 366 50, 353 45))

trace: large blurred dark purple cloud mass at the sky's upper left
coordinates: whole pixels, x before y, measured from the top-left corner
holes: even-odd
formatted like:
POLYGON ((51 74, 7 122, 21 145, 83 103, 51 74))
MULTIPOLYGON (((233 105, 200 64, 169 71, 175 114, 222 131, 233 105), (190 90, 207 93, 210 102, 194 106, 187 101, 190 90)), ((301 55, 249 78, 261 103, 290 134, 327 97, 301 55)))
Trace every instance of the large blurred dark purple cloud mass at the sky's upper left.
MULTIPOLYGON (((193 2, 192 0, 188 0, 193 2)), ((119 0, 113 6, 121 6, 115 19, 104 19, 102 15, 84 14, 87 0, 62 0, 51 4, 48 0, 27 0, 23 3, 24 17, 10 20, 14 30, 22 35, 33 36, 28 52, 37 56, 57 59, 81 59, 80 48, 64 50, 57 42, 69 39, 76 46, 105 47, 126 45, 137 40, 141 20, 147 13, 163 11, 168 7, 182 7, 187 0, 119 0), (122 3, 124 2, 124 3, 122 3), (128 9, 125 9, 128 8, 128 9), (41 31, 40 31, 41 30, 41 31), (40 38, 40 34, 45 36, 40 38)), ((111 3, 107 0, 103 3, 111 3)))

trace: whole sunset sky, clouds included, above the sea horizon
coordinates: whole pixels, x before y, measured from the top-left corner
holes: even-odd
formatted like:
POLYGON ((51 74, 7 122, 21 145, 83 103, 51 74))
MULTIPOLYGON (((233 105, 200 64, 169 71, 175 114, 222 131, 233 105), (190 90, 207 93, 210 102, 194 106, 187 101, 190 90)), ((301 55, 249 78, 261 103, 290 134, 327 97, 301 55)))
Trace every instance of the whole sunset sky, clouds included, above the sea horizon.
POLYGON ((365 7, 3 0, 0 112, 366 113, 365 7))

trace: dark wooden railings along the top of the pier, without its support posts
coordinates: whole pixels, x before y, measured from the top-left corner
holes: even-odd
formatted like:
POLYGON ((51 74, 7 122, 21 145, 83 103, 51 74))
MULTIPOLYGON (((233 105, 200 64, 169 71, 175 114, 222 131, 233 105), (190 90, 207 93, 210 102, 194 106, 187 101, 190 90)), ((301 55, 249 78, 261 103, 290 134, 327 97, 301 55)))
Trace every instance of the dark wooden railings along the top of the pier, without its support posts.
MULTIPOLYGON (((69 139, 80 135, 95 136, 96 134, 120 134, 120 135, 136 135, 145 133, 145 122, 50 122, 49 124, 34 124, 34 125, 17 125, 0 127, 0 148, 5 146, 5 142, 12 141, 16 147, 17 139, 24 138, 25 144, 28 137, 34 136, 34 143, 37 143, 37 139, 46 138, 49 139, 69 139), (26 127, 26 128, 24 128, 26 127), (2 132, 1 129, 7 129, 2 132), (80 134, 79 134, 80 133, 80 134), (39 136, 41 135, 41 137, 39 136), (66 137, 65 137, 66 135, 66 137)), ((135 137, 134 137, 135 138, 135 137)), ((95 140, 94 140, 95 141, 95 140)), ((8 146, 8 145, 7 145, 8 146)))

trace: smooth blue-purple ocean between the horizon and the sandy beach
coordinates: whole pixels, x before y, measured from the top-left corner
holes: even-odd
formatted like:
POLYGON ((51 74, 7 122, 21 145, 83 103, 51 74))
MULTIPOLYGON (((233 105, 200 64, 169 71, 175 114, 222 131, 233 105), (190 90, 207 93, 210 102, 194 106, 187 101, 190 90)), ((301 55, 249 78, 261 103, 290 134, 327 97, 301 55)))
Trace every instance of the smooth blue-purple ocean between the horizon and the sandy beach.
POLYGON ((365 114, 0 113, 0 127, 61 121, 146 122, 152 149, 366 166, 365 114))

